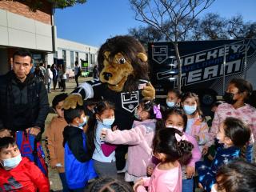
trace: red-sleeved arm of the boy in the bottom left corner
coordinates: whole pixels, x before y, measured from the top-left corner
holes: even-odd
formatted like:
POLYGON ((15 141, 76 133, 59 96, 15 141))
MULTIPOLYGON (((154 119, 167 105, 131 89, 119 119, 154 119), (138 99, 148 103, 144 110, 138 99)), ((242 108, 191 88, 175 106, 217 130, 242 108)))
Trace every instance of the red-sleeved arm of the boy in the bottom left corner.
POLYGON ((46 192, 50 191, 50 183, 48 178, 42 173, 38 166, 34 165, 34 162, 26 164, 28 168, 28 175, 31 181, 34 183, 34 186, 37 187, 37 191, 46 192))

